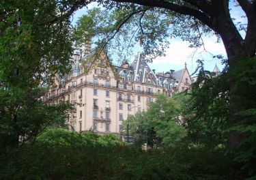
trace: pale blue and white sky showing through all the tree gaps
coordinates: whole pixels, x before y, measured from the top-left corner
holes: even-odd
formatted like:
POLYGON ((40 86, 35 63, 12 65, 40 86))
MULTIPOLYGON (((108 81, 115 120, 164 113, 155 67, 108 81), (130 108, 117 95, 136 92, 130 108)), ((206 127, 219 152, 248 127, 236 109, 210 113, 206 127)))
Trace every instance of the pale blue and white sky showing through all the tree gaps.
MULTIPOLYGON (((97 7, 97 4, 91 3, 87 7, 83 7, 76 11, 72 23, 75 24, 76 21, 87 12, 87 9, 93 7, 97 7)), ((246 23, 246 18, 241 18, 241 16, 245 16, 245 14, 236 2, 232 1, 230 9, 231 18, 234 18, 235 23, 246 23)), ((241 35, 244 37, 245 33, 241 32, 241 35)), ((218 65, 218 68, 223 70, 224 65, 221 64, 221 60, 212 58, 212 55, 223 55, 223 57, 227 57, 223 43, 217 43, 216 37, 203 37, 203 42, 206 51, 203 50, 203 47, 198 48, 197 50, 195 50, 195 48, 189 48, 188 42, 183 42, 179 38, 173 38, 170 40, 171 44, 166 50, 166 56, 157 57, 154 59, 153 63, 150 63, 149 65, 151 69, 156 70, 156 72, 167 72, 169 70, 180 70, 184 68, 186 63, 188 72, 193 74, 197 67, 197 59, 201 59, 204 61, 205 70, 212 71, 215 65, 218 65)), ((134 52, 134 56, 135 55, 137 55, 137 52, 134 52)))

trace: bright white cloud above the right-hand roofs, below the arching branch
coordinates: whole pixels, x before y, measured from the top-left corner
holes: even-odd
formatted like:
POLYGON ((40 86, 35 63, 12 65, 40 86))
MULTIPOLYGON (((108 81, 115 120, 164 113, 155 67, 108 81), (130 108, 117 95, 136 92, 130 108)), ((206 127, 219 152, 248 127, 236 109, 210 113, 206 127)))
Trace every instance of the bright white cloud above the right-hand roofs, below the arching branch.
POLYGON ((166 56, 156 58, 151 65, 153 69, 164 71, 170 69, 179 70, 184 68, 184 63, 186 62, 188 70, 193 72, 197 65, 197 59, 205 60, 205 69, 207 70, 212 70, 215 63, 217 63, 220 69, 223 67, 219 60, 212 59, 212 55, 223 55, 226 57, 223 43, 216 43, 216 38, 214 37, 203 37, 204 47, 207 51, 201 47, 195 52, 195 48, 189 48, 188 42, 183 42, 180 39, 170 41, 171 45, 167 49, 166 56))

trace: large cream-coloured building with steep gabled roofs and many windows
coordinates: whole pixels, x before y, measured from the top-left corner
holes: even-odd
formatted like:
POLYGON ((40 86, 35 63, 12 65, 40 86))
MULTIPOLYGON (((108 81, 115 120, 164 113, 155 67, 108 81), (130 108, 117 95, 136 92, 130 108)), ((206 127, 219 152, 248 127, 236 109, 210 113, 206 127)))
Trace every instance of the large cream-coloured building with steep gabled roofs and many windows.
POLYGON ((72 60, 72 72, 56 75, 56 88, 49 89, 43 100, 74 104, 67 123, 76 132, 119 134, 123 120, 147 110, 158 93, 171 97, 192 83, 186 64, 182 70, 156 73, 140 52, 132 63, 124 61, 120 66, 111 65, 104 55, 92 60, 75 52, 72 60))

